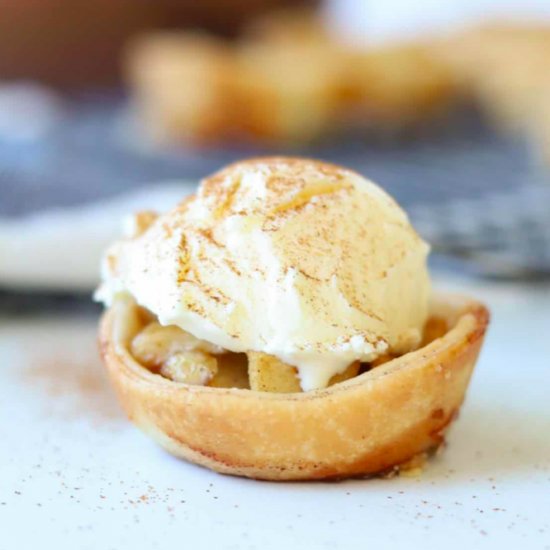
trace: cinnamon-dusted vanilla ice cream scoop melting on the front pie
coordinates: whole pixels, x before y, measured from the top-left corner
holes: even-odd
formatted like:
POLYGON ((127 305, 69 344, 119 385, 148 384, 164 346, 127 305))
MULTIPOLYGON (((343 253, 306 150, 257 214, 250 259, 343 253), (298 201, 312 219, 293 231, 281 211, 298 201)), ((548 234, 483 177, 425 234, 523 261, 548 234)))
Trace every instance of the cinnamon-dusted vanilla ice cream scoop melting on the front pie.
POLYGON ((429 247, 382 189, 303 159, 240 162, 115 243, 97 298, 129 293, 165 325, 297 367, 303 390, 416 347, 429 247))

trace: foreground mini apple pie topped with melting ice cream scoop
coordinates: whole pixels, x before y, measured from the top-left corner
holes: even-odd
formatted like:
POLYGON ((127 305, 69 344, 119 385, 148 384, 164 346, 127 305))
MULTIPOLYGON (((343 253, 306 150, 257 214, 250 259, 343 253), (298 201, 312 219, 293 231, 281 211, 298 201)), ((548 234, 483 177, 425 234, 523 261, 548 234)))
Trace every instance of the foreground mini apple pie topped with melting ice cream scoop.
POLYGON ((431 295, 429 248, 382 189, 255 159, 134 221, 105 255, 101 350, 129 417, 170 452, 324 479, 441 444, 488 312, 431 295))

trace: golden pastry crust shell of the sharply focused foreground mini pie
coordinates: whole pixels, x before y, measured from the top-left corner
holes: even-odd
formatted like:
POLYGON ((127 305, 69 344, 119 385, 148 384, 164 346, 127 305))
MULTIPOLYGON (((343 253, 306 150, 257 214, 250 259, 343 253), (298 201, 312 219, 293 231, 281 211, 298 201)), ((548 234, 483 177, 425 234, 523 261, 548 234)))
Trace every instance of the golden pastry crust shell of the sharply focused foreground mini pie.
POLYGON ((136 309, 117 302, 100 329, 130 419, 177 456, 271 480, 375 474, 437 447, 464 399, 489 320, 478 302, 439 297, 432 311, 452 327, 443 337, 325 390, 274 394, 152 374, 128 351, 136 309))

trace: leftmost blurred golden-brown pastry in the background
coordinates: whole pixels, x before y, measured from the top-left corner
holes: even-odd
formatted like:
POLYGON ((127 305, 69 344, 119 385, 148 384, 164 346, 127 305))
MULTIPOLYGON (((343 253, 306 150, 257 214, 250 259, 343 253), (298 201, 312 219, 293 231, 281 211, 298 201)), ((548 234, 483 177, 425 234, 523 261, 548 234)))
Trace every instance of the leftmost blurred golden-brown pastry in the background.
POLYGON ((223 40, 159 31, 133 40, 125 64, 133 107, 153 142, 230 139, 239 76, 233 50, 223 40))

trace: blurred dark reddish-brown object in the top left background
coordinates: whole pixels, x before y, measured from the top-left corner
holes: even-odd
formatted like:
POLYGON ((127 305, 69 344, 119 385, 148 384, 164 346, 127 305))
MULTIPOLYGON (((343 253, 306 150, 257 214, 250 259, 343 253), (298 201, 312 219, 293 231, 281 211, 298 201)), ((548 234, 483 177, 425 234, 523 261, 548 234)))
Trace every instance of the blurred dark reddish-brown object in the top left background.
POLYGON ((0 79, 61 87, 119 79, 127 39, 147 29, 204 28, 234 35, 274 8, 317 0, 0 0, 0 79))

